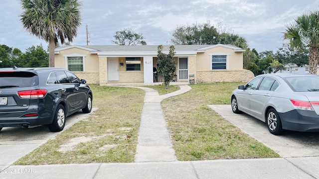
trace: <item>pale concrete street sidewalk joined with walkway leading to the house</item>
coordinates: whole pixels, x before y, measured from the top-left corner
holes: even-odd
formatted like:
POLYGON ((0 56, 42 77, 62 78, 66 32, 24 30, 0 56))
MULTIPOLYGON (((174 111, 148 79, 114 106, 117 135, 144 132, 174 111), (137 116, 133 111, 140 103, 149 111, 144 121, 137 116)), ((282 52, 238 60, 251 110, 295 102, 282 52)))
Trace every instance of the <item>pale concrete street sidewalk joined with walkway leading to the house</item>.
POLYGON ((139 88, 146 96, 136 163, 8 166, 0 179, 319 179, 319 157, 176 161, 160 101, 190 87, 165 95, 139 88))

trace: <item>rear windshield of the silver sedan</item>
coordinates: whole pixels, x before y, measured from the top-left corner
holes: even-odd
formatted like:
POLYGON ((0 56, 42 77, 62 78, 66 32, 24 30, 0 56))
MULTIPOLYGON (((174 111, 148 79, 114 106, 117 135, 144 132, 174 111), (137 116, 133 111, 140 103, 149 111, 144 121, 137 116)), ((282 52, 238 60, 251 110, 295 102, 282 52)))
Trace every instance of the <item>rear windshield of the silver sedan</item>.
POLYGON ((288 77, 285 81, 294 91, 319 91, 319 76, 288 77))

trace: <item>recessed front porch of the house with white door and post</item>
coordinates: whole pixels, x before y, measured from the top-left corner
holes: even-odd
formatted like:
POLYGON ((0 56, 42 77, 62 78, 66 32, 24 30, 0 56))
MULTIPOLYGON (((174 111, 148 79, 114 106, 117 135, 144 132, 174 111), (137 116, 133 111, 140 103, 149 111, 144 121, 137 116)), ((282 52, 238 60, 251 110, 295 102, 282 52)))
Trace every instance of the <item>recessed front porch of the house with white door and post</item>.
MULTIPOLYGON (((99 56, 100 85, 141 84, 161 85, 164 79, 158 69, 157 57, 149 56, 99 56), (104 68, 103 68, 104 67, 104 68), (101 74, 103 74, 101 76, 101 74), (104 76, 105 75, 105 76, 104 76), (105 79, 105 81, 103 80, 105 79)), ((174 57, 176 72, 171 83, 189 84, 189 58, 174 57)), ((137 86, 137 85, 133 85, 137 86)))

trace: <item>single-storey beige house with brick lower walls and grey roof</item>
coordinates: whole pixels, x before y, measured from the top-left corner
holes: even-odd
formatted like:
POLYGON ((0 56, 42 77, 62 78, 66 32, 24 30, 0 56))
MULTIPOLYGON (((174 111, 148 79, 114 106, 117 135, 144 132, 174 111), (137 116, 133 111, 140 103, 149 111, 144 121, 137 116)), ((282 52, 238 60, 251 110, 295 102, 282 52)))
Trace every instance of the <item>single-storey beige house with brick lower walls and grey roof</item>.
MULTIPOLYGON (((174 81, 195 83, 247 82, 254 77, 243 69, 242 48, 232 45, 175 45, 174 81)), ((165 45, 163 53, 168 53, 165 45)), ((55 49, 55 67, 73 71, 90 84, 163 82, 157 68, 157 45, 71 45, 55 49)))

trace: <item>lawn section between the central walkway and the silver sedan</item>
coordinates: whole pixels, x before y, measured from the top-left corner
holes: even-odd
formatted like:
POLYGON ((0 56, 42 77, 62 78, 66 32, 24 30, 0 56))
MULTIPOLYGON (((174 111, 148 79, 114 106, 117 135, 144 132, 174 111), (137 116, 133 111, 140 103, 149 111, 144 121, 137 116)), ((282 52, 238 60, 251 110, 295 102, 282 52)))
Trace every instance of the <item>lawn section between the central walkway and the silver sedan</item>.
POLYGON ((189 92, 162 101, 179 161, 279 157, 207 106, 230 104, 238 85, 242 83, 192 85, 189 92))

